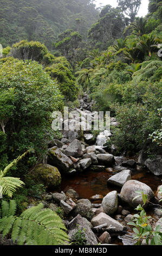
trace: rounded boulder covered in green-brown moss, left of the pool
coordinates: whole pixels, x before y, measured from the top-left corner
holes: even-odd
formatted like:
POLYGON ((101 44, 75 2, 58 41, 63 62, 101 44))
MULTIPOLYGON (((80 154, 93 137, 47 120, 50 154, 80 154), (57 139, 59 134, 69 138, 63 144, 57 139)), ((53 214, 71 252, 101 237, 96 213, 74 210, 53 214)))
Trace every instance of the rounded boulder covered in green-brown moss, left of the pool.
POLYGON ((48 188, 54 188, 61 184, 61 174, 59 170, 49 164, 37 164, 33 170, 33 178, 38 184, 43 184, 48 188))

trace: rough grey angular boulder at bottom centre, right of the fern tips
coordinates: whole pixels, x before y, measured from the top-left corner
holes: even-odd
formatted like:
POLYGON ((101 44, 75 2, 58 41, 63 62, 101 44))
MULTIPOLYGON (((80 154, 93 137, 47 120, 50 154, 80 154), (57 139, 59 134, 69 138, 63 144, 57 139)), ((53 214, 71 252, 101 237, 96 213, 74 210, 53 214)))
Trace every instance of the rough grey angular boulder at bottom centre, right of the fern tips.
POLYGON ((86 245, 98 245, 98 241, 89 227, 89 223, 82 218, 81 215, 77 215, 68 225, 70 241, 74 241, 74 237, 78 229, 81 229, 86 238, 86 245))

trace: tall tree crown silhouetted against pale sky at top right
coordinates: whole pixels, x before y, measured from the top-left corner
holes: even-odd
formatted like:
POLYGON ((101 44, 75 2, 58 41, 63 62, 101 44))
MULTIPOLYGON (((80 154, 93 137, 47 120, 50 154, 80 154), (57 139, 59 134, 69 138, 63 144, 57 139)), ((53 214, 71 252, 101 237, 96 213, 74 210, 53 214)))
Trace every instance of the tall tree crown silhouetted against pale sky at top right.
POLYGON ((137 16, 141 0, 118 0, 118 6, 129 17, 131 22, 134 22, 137 16))

